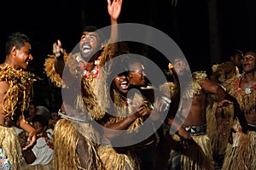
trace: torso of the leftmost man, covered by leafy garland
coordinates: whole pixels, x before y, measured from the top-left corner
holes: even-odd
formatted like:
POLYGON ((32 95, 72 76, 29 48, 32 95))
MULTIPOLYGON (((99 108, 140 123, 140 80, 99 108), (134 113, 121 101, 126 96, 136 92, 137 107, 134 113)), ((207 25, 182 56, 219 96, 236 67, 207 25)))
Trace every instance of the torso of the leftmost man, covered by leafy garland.
POLYGON ((28 109, 32 99, 32 84, 37 77, 29 71, 14 69, 9 64, 0 65, 0 123, 3 116, 17 121, 28 109))

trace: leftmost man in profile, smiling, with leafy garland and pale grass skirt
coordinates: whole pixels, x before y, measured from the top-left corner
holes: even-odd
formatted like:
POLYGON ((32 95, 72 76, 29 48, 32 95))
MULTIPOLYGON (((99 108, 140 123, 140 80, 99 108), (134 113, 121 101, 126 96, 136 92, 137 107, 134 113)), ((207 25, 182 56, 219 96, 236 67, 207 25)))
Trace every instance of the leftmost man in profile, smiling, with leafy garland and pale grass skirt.
POLYGON ((28 133, 27 150, 36 142, 36 130, 25 121, 24 111, 32 99, 34 75, 26 68, 33 59, 31 41, 14 32, 6 42, 6 58, 0 65, 0 169, 20 169, 21 149, 16 127, 28 133))

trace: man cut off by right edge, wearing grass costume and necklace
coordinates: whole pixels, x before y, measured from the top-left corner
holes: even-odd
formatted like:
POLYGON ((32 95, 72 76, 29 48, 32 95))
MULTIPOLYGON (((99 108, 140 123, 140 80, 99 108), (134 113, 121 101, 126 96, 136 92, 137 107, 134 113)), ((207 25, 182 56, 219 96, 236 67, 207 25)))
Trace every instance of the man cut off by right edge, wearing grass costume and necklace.
POLYGON ((239 129, 228 144, 223 169, 256 169, 256 50, 249 50, 241 60, 243 73, 226 81, 227 91, 236 98, 234 114, 239 129), (246 157, 245 157, 246 156, 246 157), (243 158, 243 159, 241 159, 243 158))

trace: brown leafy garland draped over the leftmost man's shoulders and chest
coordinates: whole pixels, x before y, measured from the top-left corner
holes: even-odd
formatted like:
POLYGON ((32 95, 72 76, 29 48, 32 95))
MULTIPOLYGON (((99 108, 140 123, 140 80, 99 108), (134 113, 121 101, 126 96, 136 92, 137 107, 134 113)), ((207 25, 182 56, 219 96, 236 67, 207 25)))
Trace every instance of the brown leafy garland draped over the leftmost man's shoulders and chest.
POLYGON ((20 111, 26 111, 32 97, 32 83, 36 78, 33 73, 22 69, 16 70, 9 64, 0 67, 0 81, 9 83, 9 90, 3 99, 3 110, 7 115, 13 116, 19 103, 20 111), (22 101, 19 98, 20 93, 23 94, 22 101))

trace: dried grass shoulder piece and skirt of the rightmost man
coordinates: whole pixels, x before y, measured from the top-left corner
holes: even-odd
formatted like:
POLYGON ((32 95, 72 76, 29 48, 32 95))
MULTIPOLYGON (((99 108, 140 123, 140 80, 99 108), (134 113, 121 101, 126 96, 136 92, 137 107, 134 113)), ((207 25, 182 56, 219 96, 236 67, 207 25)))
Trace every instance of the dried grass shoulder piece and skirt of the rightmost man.
MULTIPOLYGON (((241 77, 243 77, 241 74, 241 77)), ((230 95, 236 98, 241 112, 240 114, 250 114, 255 111, 256 84, 251 88, 242 90, 240 88, 241 77, 234 77, 227 81, 227 90, 230 95), (230 85, 230 86, 229 86, 230 85)), ((236 111, 236 110, 235 110, 236 111)), ((235 112, 236 114, 236 112, 235 112)), ((236 116, 239 118, 240 115, 236 116)), ((223 169, 256 169, 256 125, 245 124, 238 129, 233 136, 232 144, 228 144, 224 158, 223 169)))

